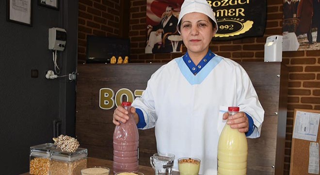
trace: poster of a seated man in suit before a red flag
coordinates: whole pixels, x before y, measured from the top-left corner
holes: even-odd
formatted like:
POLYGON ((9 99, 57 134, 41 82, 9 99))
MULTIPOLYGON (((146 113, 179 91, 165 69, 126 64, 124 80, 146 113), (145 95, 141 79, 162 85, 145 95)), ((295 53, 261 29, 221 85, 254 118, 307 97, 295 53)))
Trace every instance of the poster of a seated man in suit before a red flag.
POLYGON ((147 0, 145 53, 182 52, 176 26, 184 0, 147 0))

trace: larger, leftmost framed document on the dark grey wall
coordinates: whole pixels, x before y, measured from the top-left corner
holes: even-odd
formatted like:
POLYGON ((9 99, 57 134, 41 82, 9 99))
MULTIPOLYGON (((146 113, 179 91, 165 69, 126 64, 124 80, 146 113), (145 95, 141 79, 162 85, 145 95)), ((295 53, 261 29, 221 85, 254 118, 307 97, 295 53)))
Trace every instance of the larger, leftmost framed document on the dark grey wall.
POLYGON ((32 26, 32 0, 7 0, 7 20, 32 26))

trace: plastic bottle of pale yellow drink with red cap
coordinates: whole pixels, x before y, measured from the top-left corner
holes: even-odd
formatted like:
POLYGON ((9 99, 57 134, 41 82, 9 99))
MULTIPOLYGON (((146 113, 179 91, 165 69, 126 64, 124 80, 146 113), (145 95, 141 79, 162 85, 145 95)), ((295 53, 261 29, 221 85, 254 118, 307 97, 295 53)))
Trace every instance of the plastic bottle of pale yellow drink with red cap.
MULTIPOLYGON (((239 112, 239 107, 228 107, 229 115, 239 112)), ((224 125, 218 143, 218 175, 247 174, 248 143, 244 133, 224 125)))

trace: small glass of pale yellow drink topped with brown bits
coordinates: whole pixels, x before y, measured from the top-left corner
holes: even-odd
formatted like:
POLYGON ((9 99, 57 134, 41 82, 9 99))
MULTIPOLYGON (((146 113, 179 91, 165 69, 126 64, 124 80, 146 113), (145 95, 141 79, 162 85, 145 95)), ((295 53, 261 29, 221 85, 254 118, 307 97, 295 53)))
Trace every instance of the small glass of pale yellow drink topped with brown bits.
POLYGON ((178 159, 180 175, 198 175, 200 170, 200 159, 193 157, 182 157, 178 159))

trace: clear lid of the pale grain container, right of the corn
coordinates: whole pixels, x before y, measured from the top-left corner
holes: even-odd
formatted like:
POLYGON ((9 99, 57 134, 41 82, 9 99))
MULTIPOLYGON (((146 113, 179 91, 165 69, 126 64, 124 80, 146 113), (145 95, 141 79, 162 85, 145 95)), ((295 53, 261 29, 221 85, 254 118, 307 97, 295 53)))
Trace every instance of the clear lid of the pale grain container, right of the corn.
POLYGON ((78 148, 74 153, 62 151, 61 149, 51 150, 51 159, 62 161, 74 161, 81 158, 87 158, 88 150, 86 148, 78 148))

